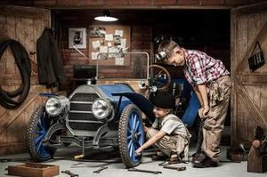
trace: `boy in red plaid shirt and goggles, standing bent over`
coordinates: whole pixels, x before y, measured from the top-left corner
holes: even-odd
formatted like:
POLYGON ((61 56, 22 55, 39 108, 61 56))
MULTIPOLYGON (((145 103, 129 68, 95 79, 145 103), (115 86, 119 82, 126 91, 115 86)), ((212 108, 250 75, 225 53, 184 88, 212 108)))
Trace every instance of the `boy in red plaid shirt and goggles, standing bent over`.
POLYGON ((184 76, 193 86, 201 105, 199 117, 206 119, 202 152, 193 158, 193 166, 217 166, 224 119, 231 95, 230 72, 221 60, 215 60, 204 52, 185 50, 172 40, 159 44, 156 57, 166 64, 183 67, 184 76))

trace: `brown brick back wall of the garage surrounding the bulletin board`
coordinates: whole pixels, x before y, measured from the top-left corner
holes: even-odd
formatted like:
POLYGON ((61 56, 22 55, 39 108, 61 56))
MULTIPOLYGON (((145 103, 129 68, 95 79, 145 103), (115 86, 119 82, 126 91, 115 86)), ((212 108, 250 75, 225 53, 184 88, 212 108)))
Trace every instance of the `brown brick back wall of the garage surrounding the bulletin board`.
MULTIPOLYGON (((55 31, 58 31, 59 34, 59 45, 61 50, 61 58, 64 65, 64 70, 66 72, 66 76, 68 82, 65 85, 60 86, 60 90, 64 90, 67 93, 71 93, 76 85, 73 80, 73 66, 74 65, 95 65, 96 60, 91 59, 91 53, 89 52, 90 47, 92 47, 92 41, 89 39, 89 27, 94 25, 97 26, 105 26, 107 23, 97 23, 93 20, 95 16, 95 11, 88 10, 86 11, 53 11, 53 15, 55 18, 55 23, 57 27, 55 31), (69 49, 69 28, 86 28, 87 33, 87 46, 85 49, 79 49, 80 52, 83 52, 85 56, 77 52, 75 49, 69 49)), ((97 13, 99 14, 99 13, 97 13)), ((111 22, 108 25, 112 26, 128 26, 130 28, 130 52, 149 52, 150 57, 153 53, 152 47, 152 29, 150 25, 141 24, 141 23, 133 23, 132 21, 122 21, 119 22, 111 22)), ((102 68, 102 70, 106 69, 107 72, 117 73, 116 67, 107 66, 106 68, 102 68)), ((123 68, 120 68, 121 72, 117 73, 117 78, 125 78, 123 68), (120 76, 121 75, 121 76, 120 76)), ((125 69, 125 72, 128 72, 125 69)), ((120 81, 121 82, 121 81, 120 81)), ((99 83, 99 82, 98 82, 99 83)), ((131 84, 134 88, 138 87, 139 81, 137 84, 131 84)))

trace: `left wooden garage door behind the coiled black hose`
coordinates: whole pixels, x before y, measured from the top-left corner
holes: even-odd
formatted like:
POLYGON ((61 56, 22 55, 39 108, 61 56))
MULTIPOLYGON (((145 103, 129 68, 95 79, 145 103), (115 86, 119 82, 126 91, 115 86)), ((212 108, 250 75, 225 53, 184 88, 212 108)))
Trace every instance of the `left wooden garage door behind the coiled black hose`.
MULTIPOLYGON (((28 97, 18 109, 0 106, 0 156, 25 151, 24 134, 34 109, 44 102, 36 93, 47 92, 38 84, 36 40, 45 27, 50 28, 50 11, 19 6, 0 6, 0 38, 14 39, 27 50, 32 65, 28 97)), ((6 49, 0 60, 0 85, 14 91, 21 84, 20 72, 13 54, 6 49)))

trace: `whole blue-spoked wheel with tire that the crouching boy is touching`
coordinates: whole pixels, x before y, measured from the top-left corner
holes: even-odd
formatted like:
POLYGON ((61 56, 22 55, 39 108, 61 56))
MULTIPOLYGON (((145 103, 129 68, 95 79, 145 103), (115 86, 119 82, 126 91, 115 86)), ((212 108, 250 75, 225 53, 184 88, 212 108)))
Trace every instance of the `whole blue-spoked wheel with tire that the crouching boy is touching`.
POLYGON ((135 150, 142 146, 143 141, 140 110, 134 104, 130 104, 123 110, 118 126, 118 147, 126 167, 140 164, 142 156, 136 157, 135 150))

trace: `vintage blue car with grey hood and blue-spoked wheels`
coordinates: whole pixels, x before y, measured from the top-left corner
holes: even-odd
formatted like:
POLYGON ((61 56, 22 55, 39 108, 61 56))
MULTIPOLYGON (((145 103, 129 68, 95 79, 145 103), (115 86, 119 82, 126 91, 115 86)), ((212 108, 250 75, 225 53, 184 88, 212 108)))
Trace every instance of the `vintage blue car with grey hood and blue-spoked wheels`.
MULTIPOLYGON (((148 55, 141 54, 145 54, 145 62, 149 63, 148 55)), ((97 67, 98 79, 101 67, 97 67)), ((160 66, 152 65, 144 70, 141 87, 150 93, 171 83, 166 69, 160 66)), ((49 98, 28 122, 26 144, 34 160, 49 160, 56 149, 73 143, 82 148, 82 157, 87 149, 119 149, 126 167, 140 164, 142 156, 136 157, 134 152, 145 141, 143 120, 152 123, 155 119, 153 105, 146 96, 124 83, 82 84, 69 97, 45 95, 49 98)))

